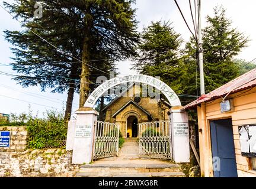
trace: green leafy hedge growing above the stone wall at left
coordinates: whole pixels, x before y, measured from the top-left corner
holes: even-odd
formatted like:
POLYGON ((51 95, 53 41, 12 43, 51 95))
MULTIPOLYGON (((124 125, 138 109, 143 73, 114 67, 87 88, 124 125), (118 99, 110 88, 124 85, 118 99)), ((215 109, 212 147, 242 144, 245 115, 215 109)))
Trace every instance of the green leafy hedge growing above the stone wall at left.
POLYGON ((28 114, 12 113, 9 122, 1 126, 26 126, 28 148, 60 148, 64 146, 67 133, 67 122, 63 117, 61 112, 46 110, 44 118, 38 118, 29 110, 28 114))

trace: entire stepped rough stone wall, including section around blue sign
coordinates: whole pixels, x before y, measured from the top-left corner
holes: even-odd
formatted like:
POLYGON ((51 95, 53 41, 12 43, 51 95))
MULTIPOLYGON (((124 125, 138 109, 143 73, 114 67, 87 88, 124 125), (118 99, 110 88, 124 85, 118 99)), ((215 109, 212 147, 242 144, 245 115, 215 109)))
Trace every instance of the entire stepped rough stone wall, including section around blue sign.
POLYGON ((72 165, 72 152, 65 149, 25 149, 25 127, 0 126, 11 131, 11 145, 0 148, 0 177, 75 177, 79 165, 72 165))

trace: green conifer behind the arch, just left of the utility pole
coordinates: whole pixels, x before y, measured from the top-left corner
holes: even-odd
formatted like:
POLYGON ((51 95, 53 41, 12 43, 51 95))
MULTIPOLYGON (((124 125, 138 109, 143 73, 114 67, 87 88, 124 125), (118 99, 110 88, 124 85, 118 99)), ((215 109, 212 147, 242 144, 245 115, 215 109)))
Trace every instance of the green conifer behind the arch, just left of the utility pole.
POLYGON ((140 44, 137 47, 139 56, 133 69, 141 74, 160 76, 160 79, 176 92, 178 77, 178 48, 182 40, 169 22, 151 22, 143 29, 140 44))

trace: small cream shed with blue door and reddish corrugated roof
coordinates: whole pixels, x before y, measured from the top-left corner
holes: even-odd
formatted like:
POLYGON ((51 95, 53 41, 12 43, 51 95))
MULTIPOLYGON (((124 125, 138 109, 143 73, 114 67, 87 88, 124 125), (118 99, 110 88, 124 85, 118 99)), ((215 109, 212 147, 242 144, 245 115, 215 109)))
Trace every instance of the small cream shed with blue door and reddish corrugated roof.
POLYGON ((197 109, 201 175, 256 177, 256 69, 204 94, 197 109))

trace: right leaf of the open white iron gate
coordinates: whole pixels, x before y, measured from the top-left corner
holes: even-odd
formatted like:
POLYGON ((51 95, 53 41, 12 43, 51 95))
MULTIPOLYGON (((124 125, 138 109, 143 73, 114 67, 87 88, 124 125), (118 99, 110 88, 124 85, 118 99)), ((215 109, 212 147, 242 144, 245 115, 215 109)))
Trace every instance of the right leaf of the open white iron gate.
POLYGON ((172 159, 169 120, 139 123, 139 157, 172 159))

